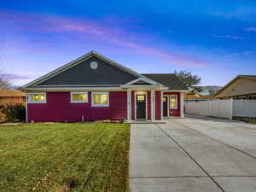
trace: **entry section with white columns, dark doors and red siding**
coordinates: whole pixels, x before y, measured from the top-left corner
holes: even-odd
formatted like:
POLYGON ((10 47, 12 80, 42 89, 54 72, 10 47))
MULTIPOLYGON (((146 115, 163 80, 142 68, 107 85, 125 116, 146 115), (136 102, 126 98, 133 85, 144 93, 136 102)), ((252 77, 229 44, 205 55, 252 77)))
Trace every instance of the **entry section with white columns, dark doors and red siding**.
POLYGON ((184 117, 184 93, 161 89, 128 89, 127 122, 165 123, 168 118, 184 117))

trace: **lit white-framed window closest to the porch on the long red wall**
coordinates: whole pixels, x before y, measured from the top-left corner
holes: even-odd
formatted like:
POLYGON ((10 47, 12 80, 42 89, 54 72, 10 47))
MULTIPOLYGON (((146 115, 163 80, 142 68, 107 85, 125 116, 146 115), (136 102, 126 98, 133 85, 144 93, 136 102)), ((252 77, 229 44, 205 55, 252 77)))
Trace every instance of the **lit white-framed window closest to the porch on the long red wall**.
POLYGON ((108 92, 93 92, 91 93, 91 103, 93 107, 108 107, 109 106, 108 92))

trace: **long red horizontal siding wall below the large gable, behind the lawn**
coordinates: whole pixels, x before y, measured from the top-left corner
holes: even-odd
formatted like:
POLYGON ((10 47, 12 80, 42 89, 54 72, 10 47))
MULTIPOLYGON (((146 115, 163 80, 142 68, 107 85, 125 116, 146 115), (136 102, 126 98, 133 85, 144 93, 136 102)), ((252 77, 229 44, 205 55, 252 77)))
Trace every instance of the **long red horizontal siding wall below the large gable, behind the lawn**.
POLYGON ((28 121, 81 121, 99 119, 125 119, 127 115, 126 91, 110 91, 109 107, 91 107, 91 94, 88 92, 89 102, 71 103, 69 92, 48 92, 47 103, 28 103, 28 121))

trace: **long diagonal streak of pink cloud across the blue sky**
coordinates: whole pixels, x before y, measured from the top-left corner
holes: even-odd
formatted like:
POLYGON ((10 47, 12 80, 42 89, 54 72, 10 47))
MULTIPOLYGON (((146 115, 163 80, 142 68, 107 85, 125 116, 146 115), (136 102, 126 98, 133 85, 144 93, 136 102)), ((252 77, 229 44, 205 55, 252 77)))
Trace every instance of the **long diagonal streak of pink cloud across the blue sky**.
MULTIPOLYGON (((94 41, 106 42, 130 52, 159 57, 166 63, 180 66, 206 66, 209 64, 202 61, 195 55, 185 55, 173 51, 155 49, 153 46, 143 44, 147 37, 134 32, 127 32, 119 27, 109 27, 96 20, 74 20, 70 18, 58 17, 54 15, 28 15, 17 12, 1 12, 0 16, 6 20, 12 20, 21 27, 39 32, 59 32, 72 34, 83 41, 84 37, 89 37, 94 41)), ((114 18, 116 21, 117 19, 114 18)))

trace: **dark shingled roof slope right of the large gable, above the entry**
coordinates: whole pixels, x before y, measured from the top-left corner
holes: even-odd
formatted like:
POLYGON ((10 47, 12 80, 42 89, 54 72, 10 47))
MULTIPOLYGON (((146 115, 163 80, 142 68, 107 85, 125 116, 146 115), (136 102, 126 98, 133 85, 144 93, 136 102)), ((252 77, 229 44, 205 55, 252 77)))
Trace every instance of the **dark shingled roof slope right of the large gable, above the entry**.
POLYGON ((170 90, 188 90, 183 82, 173 73, 149 73, 143 76, 169 87, 170 90))

